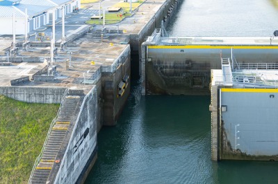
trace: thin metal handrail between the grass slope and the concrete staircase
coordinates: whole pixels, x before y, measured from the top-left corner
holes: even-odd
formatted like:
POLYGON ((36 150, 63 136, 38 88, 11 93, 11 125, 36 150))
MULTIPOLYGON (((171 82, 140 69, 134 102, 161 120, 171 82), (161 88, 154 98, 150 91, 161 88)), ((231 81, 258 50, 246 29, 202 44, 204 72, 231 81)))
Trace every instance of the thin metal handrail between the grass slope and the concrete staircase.
POLYGON ((54 127, 54 125, 56 125, 56 120, 57 120, 57 118, 58 118, 58 116, 59 116, 59 114, 60 114, 60 110, 61 110, 62 107, 63 107, 63 103, 64 103, 64 100, 65 100, 65 98, 66 98, 68 92, 69 92, 69 89, 66 89, 66 90, 65 90, 65 93, 63 94, 63 98, 62 98, 62 100, 61 100, 60 107, 59 107, 59 109, 58 109, 58 113, 57 113, 56 117, 52 120, 51 125, 50 125, 50 127, 49 127, 49 131, 48 131, 48 133, 47 133, 47 138, 45 138, 45 140, 44 140, 44 145, 42 146, 42 151, 40 151, 39 156, 35 159, 35 163, 34 163, 34 165, 33 165, 33 169, 32 169, 32 172, 31 172, 30 177, 29 177, 29 180, 28 180, 28 183, 29 183, 29 184, 31 184, 31 179, 32 179, 33 174, 34 174, 34 172, 35 172, 35 167, 37 167, 37 165, 40 163, 40 159, 42 158, 42 154, 44 153, 44 149, 45 149, 45 147, 46 147, 46 145, 47 145, 47 141, 48 141, 49 136, 50 136, 50 134, 51 134, 51 130, 52 130, 52 128, 54 127))

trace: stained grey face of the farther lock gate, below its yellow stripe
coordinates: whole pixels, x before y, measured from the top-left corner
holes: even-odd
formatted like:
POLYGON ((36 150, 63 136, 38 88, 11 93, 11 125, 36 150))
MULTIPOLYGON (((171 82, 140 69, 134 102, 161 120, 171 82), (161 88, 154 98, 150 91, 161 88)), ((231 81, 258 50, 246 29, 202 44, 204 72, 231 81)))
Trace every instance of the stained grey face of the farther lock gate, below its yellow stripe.
MULTIPOLYGON (((198 46, 196 46, 198 47, 198 46)), ((208 95, 211 68, 220 69, 229 48, 187 48, 186 46, 147 46, 145 85, 147 94, 208 95)), ((238 62, 278 63, 276 49, 234 49, 238 62)))

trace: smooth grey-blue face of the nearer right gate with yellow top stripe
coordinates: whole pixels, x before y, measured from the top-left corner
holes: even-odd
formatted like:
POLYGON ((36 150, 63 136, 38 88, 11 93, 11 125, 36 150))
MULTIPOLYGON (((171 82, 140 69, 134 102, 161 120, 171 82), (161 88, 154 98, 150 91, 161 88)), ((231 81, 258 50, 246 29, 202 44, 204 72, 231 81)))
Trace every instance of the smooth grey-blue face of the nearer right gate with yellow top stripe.
POLYGON ((278 160, 278 90, 221 89, 221 158, 278 160))

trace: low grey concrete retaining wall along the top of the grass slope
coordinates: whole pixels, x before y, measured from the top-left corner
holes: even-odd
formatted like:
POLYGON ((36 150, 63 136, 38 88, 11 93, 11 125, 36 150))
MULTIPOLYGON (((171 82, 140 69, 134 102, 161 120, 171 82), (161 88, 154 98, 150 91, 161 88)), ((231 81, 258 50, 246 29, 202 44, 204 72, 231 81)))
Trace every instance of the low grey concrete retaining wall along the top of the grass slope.
POLYGON ((65 87, 0 86, 0 94, 28 103, 58 104, 65 87))

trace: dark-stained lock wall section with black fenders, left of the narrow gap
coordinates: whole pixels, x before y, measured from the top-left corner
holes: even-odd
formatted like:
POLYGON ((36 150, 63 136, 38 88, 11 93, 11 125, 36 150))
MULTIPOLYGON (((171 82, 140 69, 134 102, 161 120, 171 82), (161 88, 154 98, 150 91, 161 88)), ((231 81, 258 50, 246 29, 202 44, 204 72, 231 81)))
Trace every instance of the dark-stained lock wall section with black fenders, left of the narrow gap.
MULTIPOLYGON (((122 81, 124 75, 131 75, 131 55, 129 46, 116 59, 111 68, 113 72, 102 72, 102 96, 103 96, 103 125, 116 125, 116 120, 120 116, 124 103, 126 102, 130 93, 130 77, 129 85, 126 87, 124 95, 117 97, 119 93, 118 84, 122 81), (114 70, 115 68, 115 70, 114 70)), ((109 71, 108 70, 108 71, 109 71)), ((102 71, 102 70, 101 70, 102 71)))

